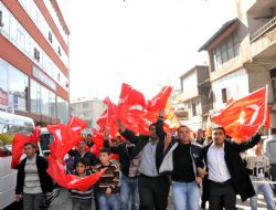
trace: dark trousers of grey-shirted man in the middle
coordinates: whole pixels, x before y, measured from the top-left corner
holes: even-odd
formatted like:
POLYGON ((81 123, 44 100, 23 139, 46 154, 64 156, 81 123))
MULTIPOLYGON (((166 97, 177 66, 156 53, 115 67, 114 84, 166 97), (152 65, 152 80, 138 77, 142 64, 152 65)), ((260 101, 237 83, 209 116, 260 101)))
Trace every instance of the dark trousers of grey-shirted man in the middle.
POLYGON ((140 175, 138 178, 140 209, 166 210, 168 204, 169 189, 170 183, 167 176, 150 178, 140 175))

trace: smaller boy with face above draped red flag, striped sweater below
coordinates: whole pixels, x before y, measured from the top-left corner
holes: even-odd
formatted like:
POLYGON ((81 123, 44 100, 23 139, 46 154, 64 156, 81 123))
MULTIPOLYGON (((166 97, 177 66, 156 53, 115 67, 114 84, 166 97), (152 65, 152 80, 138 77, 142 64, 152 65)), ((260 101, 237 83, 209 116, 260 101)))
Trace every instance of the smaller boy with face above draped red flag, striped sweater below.
MULTIPOLYGON (((91 175, 89 170, 86 170, 86 161, 81 158, 76 161, 76 170, 74 175, 85 178, 91 175)), ((73 210, 92 210, 92 187, 86 191, 71 190, 71 198, 73 210)))

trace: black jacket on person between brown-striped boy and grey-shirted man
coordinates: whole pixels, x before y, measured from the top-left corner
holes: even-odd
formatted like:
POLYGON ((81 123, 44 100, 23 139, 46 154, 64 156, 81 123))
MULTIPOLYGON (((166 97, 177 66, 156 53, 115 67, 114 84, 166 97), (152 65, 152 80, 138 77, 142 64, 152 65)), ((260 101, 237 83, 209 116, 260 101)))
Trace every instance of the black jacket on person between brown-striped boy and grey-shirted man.
POLYGON ((120 143, 116 147, 110 147, 109 141, 105 140, 104 146, 109 147, 113 154, 119 155, 120 170, 125 176, 128 177, 129 166, 130 166, 130 161, 132 159, 132 153, 135 149, 135 145, 132 145, 132 144, 128 145, 127 143, 120 143))

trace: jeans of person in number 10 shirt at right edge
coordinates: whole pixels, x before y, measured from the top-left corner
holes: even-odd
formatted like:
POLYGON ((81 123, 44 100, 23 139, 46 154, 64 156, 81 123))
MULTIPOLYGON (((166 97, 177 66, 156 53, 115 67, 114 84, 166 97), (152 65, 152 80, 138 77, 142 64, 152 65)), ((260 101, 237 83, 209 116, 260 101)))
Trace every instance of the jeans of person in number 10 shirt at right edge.
POLYGON ((258 193, 258 191, 263 192, 266 204, 267 204, 267 209, 268 210, 276 209, 275 203, 274 203, 273 189, 269 186, 269 183, 254 183, 254 189, 256 191, 256 196, 254 196, 250 199, 252 210, 257 210, 257 193, 258 193))

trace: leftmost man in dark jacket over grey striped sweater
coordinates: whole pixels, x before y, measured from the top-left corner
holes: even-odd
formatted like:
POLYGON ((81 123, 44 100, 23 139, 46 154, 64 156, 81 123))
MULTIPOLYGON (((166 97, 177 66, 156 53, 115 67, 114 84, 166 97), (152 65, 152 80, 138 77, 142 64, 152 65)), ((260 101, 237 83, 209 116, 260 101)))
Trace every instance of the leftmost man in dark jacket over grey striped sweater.
POLYGON ((21 161, 18 169, 15 187, 15 200, 23 196, 24 210, 41 210, 45 195, 53 191, 53 181, 49 174, 45 158, 35 154, 36 146, 33 143, 24 145, 26 157, 21 161))

